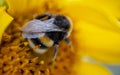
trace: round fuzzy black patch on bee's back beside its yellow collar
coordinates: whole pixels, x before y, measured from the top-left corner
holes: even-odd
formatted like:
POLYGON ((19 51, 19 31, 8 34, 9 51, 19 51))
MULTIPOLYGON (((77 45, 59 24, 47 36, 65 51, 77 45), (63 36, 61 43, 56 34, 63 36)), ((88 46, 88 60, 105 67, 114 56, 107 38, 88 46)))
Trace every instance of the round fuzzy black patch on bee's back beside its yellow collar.
POLYGON ((57 25, 60 29, 68 31, 70 28, 69 20, 63 15, 57 15, 55 17, 54 24, 57 25))

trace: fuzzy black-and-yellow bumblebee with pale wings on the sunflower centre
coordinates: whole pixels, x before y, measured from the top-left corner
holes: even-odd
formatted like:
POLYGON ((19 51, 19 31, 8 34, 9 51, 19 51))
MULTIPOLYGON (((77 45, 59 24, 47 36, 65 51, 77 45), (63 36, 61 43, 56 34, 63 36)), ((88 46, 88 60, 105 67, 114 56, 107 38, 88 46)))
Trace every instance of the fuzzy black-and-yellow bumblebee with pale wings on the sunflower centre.
POLYGON ((60 41, 71 44, 68 37, 72 31, 72 24, 64 15, 39 15, 23 25, 21 31, 36 53, 43 54, 49 47, 54 46, 53 60, 56 58, 60 41))

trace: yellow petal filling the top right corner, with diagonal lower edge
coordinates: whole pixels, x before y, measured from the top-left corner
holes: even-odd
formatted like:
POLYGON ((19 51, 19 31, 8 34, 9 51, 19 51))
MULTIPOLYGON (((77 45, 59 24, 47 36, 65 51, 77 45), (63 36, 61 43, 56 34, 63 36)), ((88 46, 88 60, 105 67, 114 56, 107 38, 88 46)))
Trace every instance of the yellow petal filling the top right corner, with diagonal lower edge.
POLYGON ((120 19, 120 0, 80 0, 81 4, 102 9, 120 19))

